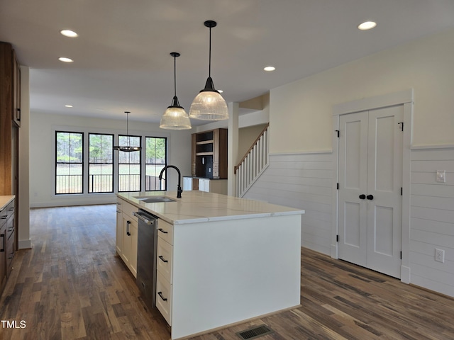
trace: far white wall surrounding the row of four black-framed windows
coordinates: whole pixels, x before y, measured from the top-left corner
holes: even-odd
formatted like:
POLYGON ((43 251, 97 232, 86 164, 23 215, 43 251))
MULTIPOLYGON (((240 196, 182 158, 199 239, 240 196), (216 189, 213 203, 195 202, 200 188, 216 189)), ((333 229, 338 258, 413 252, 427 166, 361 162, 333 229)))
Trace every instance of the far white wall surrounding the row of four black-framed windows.
MULTIPOLYGON (((114 194, 55 196, 55 129, 82 132, 126 133, 126 120, 76 117, 71 115, 30 115, 30 205, 31 207, 114 203, 114 194)), ((157 124, 129 121, 129 134, 168 137, 169 164, 183 175, 191 173, 192 130, 162 130, 157 124)), ((177 172, 169 171, 168 191, 177 190, 177 172)))

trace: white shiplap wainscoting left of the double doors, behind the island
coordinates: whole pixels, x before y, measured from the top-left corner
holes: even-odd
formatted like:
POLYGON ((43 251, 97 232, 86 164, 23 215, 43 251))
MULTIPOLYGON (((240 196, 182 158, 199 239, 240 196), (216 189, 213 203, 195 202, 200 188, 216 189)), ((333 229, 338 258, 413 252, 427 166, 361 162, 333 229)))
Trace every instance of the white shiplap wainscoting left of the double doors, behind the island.
POLYGON ((329 255, 333 176, 331 152, 270 154, 270 166, 244 198, 306 210, 301 246, 329 255))

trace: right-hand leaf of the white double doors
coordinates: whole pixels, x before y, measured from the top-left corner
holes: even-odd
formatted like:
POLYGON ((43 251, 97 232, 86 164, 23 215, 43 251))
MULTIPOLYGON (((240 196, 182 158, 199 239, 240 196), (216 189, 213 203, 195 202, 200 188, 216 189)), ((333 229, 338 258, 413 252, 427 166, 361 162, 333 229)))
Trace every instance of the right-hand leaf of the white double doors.
POLYGON ((400 278, 403 106, 369 112, 367 268, 400 278))

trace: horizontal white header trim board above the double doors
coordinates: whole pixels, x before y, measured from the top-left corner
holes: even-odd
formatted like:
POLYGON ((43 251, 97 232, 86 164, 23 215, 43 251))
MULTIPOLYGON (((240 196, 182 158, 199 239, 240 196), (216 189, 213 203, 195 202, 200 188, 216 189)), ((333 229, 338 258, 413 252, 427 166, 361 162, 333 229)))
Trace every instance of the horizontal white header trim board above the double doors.
POLYGON ((384 94, 370 98, 362 98, 358 101, 339 103, 333 106, 333 115, 343 115, 359 111, 372 110, 374 108, 384 108, 387 106, 402 105, 413 101, 413 89, 384 94))

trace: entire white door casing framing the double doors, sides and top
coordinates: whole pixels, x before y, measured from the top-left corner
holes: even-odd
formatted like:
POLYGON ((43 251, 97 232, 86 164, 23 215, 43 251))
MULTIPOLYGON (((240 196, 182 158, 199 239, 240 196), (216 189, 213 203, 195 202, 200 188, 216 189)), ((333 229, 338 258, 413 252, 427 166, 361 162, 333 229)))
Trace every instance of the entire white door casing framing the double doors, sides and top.
MULTIPOLYGON (((409 268, 409 248, 410 248, 410 170, 411 170, 411 142, 413 130, 413 89, 385 94, 371 98, 363 98, 359 101, 350 101, 333 106, 333 128, 339 130, 339 116, 359 111, 369 111, 375 108, 384 108, 387 106, 404 105, 404 138, 402 150, 402 264, 401 264, 401 281, 410 282, 409 268)), ((338 259, 338 191, 337 183, 339 176, 338 164, 338 137, 333 133, 333 230, 331 257, 338 259)))

